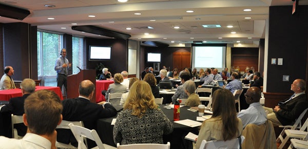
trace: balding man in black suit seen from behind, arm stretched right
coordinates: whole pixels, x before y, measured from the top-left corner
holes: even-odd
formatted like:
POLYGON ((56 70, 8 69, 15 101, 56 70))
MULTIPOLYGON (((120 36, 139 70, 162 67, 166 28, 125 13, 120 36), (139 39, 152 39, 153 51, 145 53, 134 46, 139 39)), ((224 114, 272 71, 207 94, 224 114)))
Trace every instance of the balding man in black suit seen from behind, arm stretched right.
MULTIPOLYGON (((109 103, 91 103, 94 95, 95 85, 90 80, 84 80, 79 84, 79 97, 75 99, 63 100, 63 120, 83 121, 88 129, 97 129, 97 120, 117 115, 117 110, 109 103)), ((77 146, 73 134, 68 129, 57 130, 57 141, 70 143, 77 146)), ((96 146, 95 142, 88 140, 88 147, 96 146)))

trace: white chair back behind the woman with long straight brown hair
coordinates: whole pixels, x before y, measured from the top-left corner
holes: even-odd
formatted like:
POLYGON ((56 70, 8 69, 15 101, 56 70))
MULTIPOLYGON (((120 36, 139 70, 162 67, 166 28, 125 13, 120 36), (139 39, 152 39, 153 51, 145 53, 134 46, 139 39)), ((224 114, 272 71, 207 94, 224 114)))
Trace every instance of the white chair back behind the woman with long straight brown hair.
POLYGON ((199 149, 211 148, 211 149, 218 149, 218 148, 240 148, 240 145, 243 143, 245 137, 241 136, 236 139, 227 140, 227 141, 206 141, 202 140, 199 149), (241 138, 241 141, 239 140, 241 138))

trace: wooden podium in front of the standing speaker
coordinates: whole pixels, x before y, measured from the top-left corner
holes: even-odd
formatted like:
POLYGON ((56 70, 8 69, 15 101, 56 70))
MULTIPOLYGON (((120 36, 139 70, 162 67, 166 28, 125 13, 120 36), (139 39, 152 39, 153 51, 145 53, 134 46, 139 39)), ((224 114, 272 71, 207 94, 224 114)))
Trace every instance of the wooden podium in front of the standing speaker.
MULTIPOLYGON (((82 82, 83 80, 90 80, 95 86, 96 84, 95 77, 96 77, 96 71, 94 69, 84 69, 77 74, 72 74, 70 76, 67 76, 66 98, 78 98, 79 83, 82 82)), ((91 102, 96 103, 95 90, 91 102)))

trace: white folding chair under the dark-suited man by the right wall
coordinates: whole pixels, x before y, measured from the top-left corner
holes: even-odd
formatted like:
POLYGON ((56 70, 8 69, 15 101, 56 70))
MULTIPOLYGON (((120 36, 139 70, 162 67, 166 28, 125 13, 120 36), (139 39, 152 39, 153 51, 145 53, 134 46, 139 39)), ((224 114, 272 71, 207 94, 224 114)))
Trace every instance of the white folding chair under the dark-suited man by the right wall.
POLYGON ((278 148, 282 148, 285 143, 287 142, 288 138, 287 136, 285 138, 283 138, 285 136, 285 130, 286 129, 300 129, 301 128, 301 120, 304 117, 304 115, 306 114, 306 111, 308 110, 308 108, 306 108, 300 115, 299 117, 296 119, 295 123, 293 125, 279 125, 279 127, 282 127, 282 131, 280 133, 280 135, 277 137, 276 142, 279 143, 281 142, 281 144, 279 145, 278 148))

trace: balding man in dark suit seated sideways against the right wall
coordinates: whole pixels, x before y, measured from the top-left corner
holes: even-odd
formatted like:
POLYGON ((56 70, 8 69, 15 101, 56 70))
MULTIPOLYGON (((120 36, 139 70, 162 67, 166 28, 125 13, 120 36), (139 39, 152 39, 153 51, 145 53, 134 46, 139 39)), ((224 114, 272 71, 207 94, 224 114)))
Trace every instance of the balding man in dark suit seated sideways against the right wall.
POLYGON ((304 80, 294 80, 293 84, 291 84, 291 90, 294 91, 294 95, 280 101, 274 109, 263 107, 265 110, 269 111, 267 119, 271 120, 274 126, 292 124, 292 122, 294 122, 308 107, 305 89, 306 82, 304 80))

